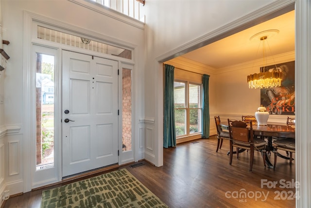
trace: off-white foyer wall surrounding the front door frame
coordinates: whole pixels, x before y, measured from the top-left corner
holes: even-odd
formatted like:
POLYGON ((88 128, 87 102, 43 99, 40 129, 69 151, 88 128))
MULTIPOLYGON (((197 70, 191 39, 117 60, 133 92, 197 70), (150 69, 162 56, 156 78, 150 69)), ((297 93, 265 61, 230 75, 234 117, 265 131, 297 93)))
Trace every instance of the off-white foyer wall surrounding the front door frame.
MULTIPOLYGON (((31 168, 29 166, 33 157, 30 153, 31 146, 29 144, 32 143, 34 138, 30 138, 29 135, 31 134, 28 133, 33 131, 29 129, 30 125, 24 123, 25 120, 30 119, 24 117, 25 113, 27 113, 24 111, 24 106, 29 105, 29 103, 25 103, 24 98, 29 98, 31 95, 23 95, 24 86, 29 86, 28 83, 24 83, 24 75, 27 74, 27 70, 31 70, 26 67, 26 71, 23 71, 23 48, 25 45, 30 45, 30 42, 23 42, 24 21, 26 21, 24 19, 25 11, 69 24, 72 28, 82 28, 81 31, 85 35, 96 34, 96 36, 101 36, 108 41, 116 41, 124 46, 135 48, 133 72, 135 81, 135 100, 133 102, 135 113, 133 113, 133 117, 135 122, 133 138, 136 139, 134 141, 135 149, 139 152, 135 154, 135 160, 142 159, 144 143, 140 142, 140 140, 144 139, 144 135, 139 137, 139 130, 144 127, 144 123, 139 123, 138 118, 144 117, 143 66, 145 56, 143 51, 143 24, 124 16, 117 19, 115 17, 118 17, 118 15, 115 15, 115 13, 83 0, 5 0, 1 1, 1 7, 3 39, 10 41, 10 45, 6 47, 6 52, 11 57, 7 63, 7 69, 3 71, 4 75, 1 72, 0 83, 0 89, 2 87, 5 89, 5 102, 3 105, 0 104, 0 121, 4 121, 5 128, 11 130, 10 133, 6 134, 7 142, 4 144, 6 158, 4 166, 5 183, 7 189, 10 189, 10 194, 26 192, 31 189, 31 181, 29 181, 29 179, 31 180, 31 168), (88 8, 76 2, 86 3, 88 8), (24 149, 26 151, 23 151, 24 149)), ((3 125, 2 122, 1 124, 3 125)), ((0 147, 1 141, 2 138, 0 137, 0 147)), ((2 158, 0 168, 3 166, 2 158)))

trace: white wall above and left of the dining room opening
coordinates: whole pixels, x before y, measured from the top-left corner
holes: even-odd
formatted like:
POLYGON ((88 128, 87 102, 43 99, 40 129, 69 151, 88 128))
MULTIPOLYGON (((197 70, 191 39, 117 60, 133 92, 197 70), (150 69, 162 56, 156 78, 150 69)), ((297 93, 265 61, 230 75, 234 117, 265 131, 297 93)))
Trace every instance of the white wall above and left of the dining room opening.
MULTIPOLYGON (((200 37, 207 35, 207 38, 212 38, 208 34, 216 36, 213 31, 273 1, 200 0, 193 3, 192 0, 151 0, 145 4, 145 116, 155 119, 153 138, 158 139, 155 148, 146 150, 146 154, 156 166, 163 165, 163 74, 162 64, 158 61, 167 61, 185 53, 191 45, 203 41, 200 37), (188 42, 191 43, 185 46, 188 42)), ((147 137, 146 141, 149 139, 147 137)))

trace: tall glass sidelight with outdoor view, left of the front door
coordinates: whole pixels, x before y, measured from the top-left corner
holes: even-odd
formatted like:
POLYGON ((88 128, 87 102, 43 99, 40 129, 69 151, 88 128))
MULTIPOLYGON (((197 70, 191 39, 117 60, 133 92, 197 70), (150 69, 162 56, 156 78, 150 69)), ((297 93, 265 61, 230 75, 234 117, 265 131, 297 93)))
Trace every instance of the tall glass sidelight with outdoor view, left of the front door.
POLYGON ((54 166, 54 56, 36 53, 36 169, 54 166))

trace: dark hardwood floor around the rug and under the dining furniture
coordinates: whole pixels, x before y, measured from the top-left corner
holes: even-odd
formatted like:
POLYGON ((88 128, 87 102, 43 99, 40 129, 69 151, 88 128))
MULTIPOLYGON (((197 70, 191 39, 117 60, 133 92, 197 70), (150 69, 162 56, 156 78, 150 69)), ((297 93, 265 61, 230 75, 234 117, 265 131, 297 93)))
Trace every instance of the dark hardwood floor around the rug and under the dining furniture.
MULTIPOLYGON (((170 208, 295 207, 295 161, 290 165, 288 160, 278 157, 276 170, 264 168, 260 153, 255 151, 253 171, 248 172, 248 152, 242 152, 239 159, 234 155, 230 166, 228 141, 218 152, 215 136, 195 142, 164 149, 162 167, 142 161, 144 165, 136 168, 120 168, 129 170, 170 208), (264 180, 266 183, 261 182, 264 180), (265 185, 273 183, 275 187, 265 185)), ((269 159, 273 162, 274 155, 269 155, 269 159)), ((39 208, 44 189, 10 197, 4 208, 39 208)))

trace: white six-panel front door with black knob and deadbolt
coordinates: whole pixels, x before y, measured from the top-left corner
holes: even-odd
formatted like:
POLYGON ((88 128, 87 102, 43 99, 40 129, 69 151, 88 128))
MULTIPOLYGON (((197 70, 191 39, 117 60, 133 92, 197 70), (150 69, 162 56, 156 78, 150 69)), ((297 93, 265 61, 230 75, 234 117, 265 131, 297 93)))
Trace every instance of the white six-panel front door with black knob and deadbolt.
POLYGON ((118 163, 118 61, 62 60, 62 176, 118 163))

